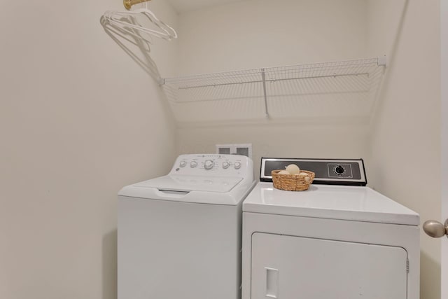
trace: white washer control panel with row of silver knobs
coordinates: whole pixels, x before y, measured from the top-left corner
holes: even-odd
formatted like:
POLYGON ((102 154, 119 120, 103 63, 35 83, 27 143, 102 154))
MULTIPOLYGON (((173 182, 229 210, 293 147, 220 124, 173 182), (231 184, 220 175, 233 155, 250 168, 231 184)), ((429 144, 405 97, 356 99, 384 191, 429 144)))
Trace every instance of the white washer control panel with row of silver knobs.
POLYGON ((252 171, 252 161, 244 155, 179 155, 170 174, 240 176, 252 171))

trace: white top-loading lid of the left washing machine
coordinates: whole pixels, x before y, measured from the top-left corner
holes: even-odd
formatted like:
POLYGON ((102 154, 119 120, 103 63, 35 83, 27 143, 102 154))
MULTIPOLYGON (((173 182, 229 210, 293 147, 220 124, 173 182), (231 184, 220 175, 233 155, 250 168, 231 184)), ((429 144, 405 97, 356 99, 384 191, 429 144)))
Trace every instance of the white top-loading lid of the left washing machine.
POLYGON ((242 180, 241 177, 167 175, 134 184, 135 187, 156 188, 166 191, 229 192, 242 180))

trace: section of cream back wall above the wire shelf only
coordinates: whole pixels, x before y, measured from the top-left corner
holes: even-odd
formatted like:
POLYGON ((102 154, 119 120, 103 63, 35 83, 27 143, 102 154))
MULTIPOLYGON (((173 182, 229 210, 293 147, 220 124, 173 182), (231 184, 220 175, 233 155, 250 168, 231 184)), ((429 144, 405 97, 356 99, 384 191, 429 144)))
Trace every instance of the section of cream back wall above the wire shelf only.
POLYGON ((365 57, 365 1, 247 0, 179 15, 179 75, 365 57))

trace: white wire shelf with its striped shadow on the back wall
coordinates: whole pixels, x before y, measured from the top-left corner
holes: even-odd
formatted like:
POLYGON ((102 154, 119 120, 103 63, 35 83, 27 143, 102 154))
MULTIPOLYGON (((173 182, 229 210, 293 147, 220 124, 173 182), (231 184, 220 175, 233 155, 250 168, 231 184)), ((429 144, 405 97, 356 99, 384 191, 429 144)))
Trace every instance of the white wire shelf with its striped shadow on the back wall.
POLYGON ((363 116, 386 57, 165 78, 180 122, 363 116))

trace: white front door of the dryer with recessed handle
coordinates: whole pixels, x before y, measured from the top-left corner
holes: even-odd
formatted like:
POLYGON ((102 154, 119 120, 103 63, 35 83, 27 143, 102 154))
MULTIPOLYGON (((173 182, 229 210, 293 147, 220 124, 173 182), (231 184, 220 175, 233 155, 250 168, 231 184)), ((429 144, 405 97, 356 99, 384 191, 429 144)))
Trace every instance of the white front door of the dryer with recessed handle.
POLYGON ((251 299, 405 299, 401 247, 256 232, 251 299))

